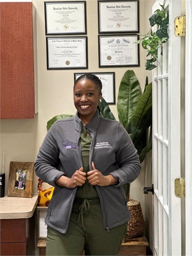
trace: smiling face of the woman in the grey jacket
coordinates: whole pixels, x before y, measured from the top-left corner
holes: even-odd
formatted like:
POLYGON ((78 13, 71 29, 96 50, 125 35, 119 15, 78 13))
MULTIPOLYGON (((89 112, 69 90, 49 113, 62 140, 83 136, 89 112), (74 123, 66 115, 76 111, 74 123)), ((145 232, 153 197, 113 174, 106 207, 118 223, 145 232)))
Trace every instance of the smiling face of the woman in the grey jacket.
POLYGON ((98 87, 91 80, 79 80, 74 86, 73 92, 74 104, 79 112, 79 117, 90 121, 97 110, 101 97, 102 93, 99 93, 98 87))

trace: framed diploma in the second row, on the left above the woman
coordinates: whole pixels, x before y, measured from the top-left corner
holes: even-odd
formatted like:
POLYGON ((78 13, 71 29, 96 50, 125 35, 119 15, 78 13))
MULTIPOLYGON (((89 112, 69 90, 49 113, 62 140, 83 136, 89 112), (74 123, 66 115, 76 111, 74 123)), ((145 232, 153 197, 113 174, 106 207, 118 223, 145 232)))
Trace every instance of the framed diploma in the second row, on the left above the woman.
POLYGON ((47 69, 88 69, 87 36, 47 37, 47 69))

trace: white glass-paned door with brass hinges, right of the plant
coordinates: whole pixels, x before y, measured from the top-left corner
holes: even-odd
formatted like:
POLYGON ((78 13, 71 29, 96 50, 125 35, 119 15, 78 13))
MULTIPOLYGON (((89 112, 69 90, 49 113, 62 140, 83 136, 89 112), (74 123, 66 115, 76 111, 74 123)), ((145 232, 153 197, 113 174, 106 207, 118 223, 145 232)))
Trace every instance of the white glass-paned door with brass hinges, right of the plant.
MULTIPOLYGON (((160 9, 158 0, 153 12, 160 9)), ((181 177, 180 43, 174 19, 181 0, 167 0, 169 41, 153 72, 153 184, 154 255, 181 255, 181 198, 174 195, 174 180, 181 177)), ((160 54, 159 54, 160 56, 160 54)))

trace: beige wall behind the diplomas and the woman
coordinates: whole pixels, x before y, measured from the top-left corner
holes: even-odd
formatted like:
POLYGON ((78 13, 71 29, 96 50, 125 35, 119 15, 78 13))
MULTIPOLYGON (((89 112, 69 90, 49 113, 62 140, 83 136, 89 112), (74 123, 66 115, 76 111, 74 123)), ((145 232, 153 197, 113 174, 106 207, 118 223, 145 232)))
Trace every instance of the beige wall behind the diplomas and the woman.
MULTIPOLYGON (((151 82, 151 72, 145 70, 145 55, 140 46, 140 67, 126 68, 100 68, 98 67, 98 15, 97 0, 87 0, 87 36, 88 36, 88 70, 47 70, 46 64, 46 36, 44 1, 34 0, 36 8, 37 24, 37 82, 38 82, 38 114, 35 119, 25 120, 1 120, 1 152, 7 151, 5 160, 6 194, 10 161, 35 161, 39 146, 46 134, 47 121, 58 114, 75 114, 73 105, 73 83, 76 72, 115 72, 116 99, 119 84, 124 73, 134 70, 142 88, 145 84, 146 75, 151 82)), ((148 18, 152 15, 152 5, 155 0, 140 0, 140 33, 149 30, 148 18)), ((118 119, 116 105, 109 105, 113 114, 118 119)), ((150 160, 150 159, 149 159, 150 160)), ((1 162, 2 163, 2 162, 1 162)), ((1 164, 2 165, 2 164, 1 164)), ((150 166, 150 165, 148 165, 150 166)), ((147 168, 148 168, 147 166, 147 168)), ((2 168, 2 166, 1 166, 2 168)), ((145 195, 143 187, 144 179, 149 169, 144 172, 131 185, 130 197, 139 200, 143 212, 145 210, 145 195)), ((151 183, 150 183, 151 184, 151 183)), ((149 184, 147 184, 149 185, 149 184)), ((37 177, 34 176, 34 193, 37 193, 37 177)))

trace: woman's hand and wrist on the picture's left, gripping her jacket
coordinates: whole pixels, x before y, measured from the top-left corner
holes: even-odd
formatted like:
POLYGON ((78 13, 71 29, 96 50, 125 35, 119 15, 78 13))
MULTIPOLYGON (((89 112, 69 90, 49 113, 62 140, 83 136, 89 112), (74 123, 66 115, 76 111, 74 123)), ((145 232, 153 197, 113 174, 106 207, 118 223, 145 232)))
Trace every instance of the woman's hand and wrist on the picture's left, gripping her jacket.
POLYGON ((57 181, 56 184, 58 186, 65 186, 68 188, 75 188, 76 186, 82 186, 86 182, 86 172, 83 171, 84 168, 81 167, 79 170, 74 172, 71 178, 66 176, 61 176, 57 181))

